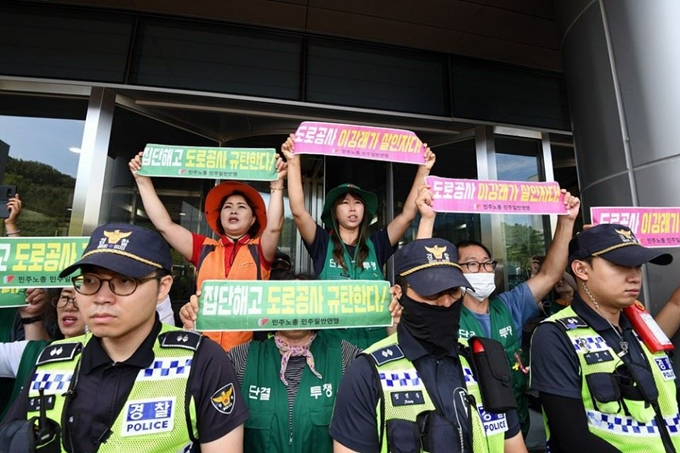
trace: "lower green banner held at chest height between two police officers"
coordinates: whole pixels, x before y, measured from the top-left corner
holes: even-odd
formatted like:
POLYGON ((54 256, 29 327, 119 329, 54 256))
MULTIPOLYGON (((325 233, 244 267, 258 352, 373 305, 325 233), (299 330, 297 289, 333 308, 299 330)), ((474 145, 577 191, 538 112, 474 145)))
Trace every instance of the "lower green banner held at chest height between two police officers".
POLYGON ((196 329, 391 326, 390 284, 375 280, 206 280, 196 329))

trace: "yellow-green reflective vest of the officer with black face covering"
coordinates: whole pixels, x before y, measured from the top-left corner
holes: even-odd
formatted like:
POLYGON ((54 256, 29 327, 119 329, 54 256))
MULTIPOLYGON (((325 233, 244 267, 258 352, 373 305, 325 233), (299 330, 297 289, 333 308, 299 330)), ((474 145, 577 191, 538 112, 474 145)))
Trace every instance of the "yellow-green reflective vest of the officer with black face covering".
MULTIPOLYGON (((462 345, 467 346, 467 342, 459 341, 462 345)), ((388 453, 386 425, 389 420, 400 419, 415 423, 418 414, 436 409, 415 366, 401 352, 396 333, 371 346, 364 353, 372 356, 371 362, 376 366, 380 377, 382 400, 385 407, 383 426, 381 426, 383 414, 379 413, 380 404, 376 409, 376 417, 378 436, 382 436, 381 453, 388 453), (380 363, 378 360, 380 360, 380 363), (404 392, 409 392, 412 396, 417 394, 420 397, 422 395, 423 401, 419 404, 393 404, 394 401, 399 400, 404 392), (393 396, 393 394, 395 395, 393 396)), ((465 388, 474 397, 477 404, 477 410, 470 411, 472 414, 472 451, 473 453, 502 452, 504 450, 505 431, 507 431, 507 416, 484 411, 479 385, 472 369, 462 355, 459 355, 458 358, 465 376, 465 388), (486 422, 483 421, 482 417, 486 422), (498 424, 504 424, 505 430, 497 429, 498 424)), ((405 451, 415 451, 412 446, 404 446, 404 448, 405 451)), ((414 446, 414 448, 417 448, 417 446, 414 446)), ((424 450, 420 451, 424 452, 424 450)))

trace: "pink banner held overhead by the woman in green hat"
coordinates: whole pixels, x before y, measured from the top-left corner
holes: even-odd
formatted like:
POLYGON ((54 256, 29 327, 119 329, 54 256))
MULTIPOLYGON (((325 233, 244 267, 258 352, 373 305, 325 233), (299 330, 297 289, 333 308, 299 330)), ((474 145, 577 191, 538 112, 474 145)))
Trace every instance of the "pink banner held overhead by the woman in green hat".
POLYGON ((411 131, 312 121, 295 131, 295 153, 425 163, 423 142, 411 131))

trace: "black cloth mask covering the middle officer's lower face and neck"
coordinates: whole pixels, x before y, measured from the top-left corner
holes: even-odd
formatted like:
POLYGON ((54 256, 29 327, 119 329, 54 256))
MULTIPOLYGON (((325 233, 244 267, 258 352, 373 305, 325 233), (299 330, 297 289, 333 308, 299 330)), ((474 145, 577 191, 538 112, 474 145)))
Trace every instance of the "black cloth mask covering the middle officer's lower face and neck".
POLYGON ((462 298, 447 308, 415 301, 403 293, 399 303, 404 307, 401 323, 411 335, 438 354, 448 354, 454 349, 462 298))

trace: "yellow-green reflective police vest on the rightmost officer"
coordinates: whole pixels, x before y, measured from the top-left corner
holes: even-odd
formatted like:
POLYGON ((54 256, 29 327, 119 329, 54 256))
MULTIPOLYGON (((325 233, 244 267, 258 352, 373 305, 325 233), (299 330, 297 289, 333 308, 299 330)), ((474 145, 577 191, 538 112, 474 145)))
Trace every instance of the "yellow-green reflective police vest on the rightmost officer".
MULTIPOLYGON (((599 401, 598 396, 589 388, 589 379, 594 382, 593 378, 614 374, 616 367, 622 363, 602 336, 588 326, 571 306, 544 322, 560 323, 564 326, 564 331, 574 347, 581 368, 581 395, 589 431, 626 453, 665 451, 651 405, 645 401, 629 399, 626 395, 621 395, 618 400, 599 401), (593 357, 594 354, 604 359, 586 360, 588 355, 593 357)), ((675 449, 680 451, 680 416, 671 359, 665 352, 652 353, 637 335, 635 337, 651 368, 654 384, 659 392, 657 401, 670 438, 675 449)), ((547 431, 548 420, 545 416, 544 420, 547 431)), ((549 442, 549 431, 547 432, 549 442)))

